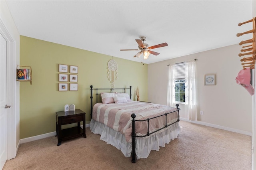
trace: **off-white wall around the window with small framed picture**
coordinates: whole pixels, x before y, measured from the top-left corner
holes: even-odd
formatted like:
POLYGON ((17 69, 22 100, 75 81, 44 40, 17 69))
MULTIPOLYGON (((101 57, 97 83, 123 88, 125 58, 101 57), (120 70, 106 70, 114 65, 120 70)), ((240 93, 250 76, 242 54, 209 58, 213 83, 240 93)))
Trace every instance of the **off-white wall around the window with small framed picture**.
MULTIPOLYGON (((252 132, 252 97, 235 80, 242 69, 240 49, 238 44, 230 45, 149 64, 148 101, 166 105, 167 65, 197 58, 198 121, 252 132), (205 86, 205 74, 216 74, 216 85, 205 86)), ((180 116, 187 119, 184 106, 180 105, 180 109, 180 116)))

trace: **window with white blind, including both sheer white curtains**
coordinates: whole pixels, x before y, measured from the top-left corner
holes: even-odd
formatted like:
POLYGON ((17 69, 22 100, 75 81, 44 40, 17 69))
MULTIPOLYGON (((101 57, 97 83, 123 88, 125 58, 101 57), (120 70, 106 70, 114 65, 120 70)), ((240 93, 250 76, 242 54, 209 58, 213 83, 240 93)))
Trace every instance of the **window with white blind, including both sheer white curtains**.
POLYGON ((190 121, 197 121, 196 60, 168 65, 167 105, 184 105, 190 121))

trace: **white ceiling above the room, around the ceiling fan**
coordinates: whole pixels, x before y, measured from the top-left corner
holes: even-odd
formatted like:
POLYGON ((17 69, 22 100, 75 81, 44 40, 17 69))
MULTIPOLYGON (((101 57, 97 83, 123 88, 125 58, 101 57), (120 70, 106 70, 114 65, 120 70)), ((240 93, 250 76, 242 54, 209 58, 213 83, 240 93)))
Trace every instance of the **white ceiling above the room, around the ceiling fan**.
MULTIPOLYGON (((237 44, 251 35, 251 0, 6 1, 20 35, 142 62, 135 39, 152 49, 144 63, 237 44)), ((249 37, 250 36, 250 37, 249 37)))

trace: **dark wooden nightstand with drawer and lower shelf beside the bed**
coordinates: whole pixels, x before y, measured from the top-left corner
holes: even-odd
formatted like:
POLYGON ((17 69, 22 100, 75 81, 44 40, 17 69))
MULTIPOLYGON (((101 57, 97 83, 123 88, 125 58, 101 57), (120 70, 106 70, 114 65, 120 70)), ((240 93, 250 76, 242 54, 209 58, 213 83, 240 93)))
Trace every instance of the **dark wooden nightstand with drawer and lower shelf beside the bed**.
POLYGON ((85 112, 80 109, 75 111, 60 111, 56 112, 56 136, 58 138, 59 146, 62 140, 68 140, 78 136, 84 136, 85 134, 85 112), (80 122, 83 122, 83 128, 80 127, 80 122), (67 125, 70 123, 77 123, 77 127, 61 129, 61 125, 67 125))

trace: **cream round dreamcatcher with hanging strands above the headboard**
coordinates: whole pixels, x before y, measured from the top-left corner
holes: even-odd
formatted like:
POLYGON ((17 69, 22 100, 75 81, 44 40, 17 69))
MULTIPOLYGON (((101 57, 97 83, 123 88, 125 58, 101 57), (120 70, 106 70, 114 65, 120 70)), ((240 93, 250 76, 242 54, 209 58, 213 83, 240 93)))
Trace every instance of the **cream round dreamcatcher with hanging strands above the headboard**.
POLYGON ((108 80, 110 81, 111 88, 115 87, 115 78, 114 76, 116 75, 116 80, 118 79, 118 68, 117 68, 117 63, 114 59, 110 59, 108 61, 108 80), (116 73, 114 73, 116 71, 116 73))

